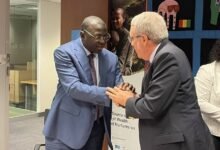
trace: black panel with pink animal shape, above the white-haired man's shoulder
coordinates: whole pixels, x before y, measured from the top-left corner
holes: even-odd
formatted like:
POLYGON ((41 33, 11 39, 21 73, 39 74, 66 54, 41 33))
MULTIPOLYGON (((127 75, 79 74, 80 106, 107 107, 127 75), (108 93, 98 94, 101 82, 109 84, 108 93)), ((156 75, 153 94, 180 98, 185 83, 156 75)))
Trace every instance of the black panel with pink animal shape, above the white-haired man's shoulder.
POLYGON ((152 7, 164 17, 169 31, 194 30, 195 0, 152 0, 152 7))

